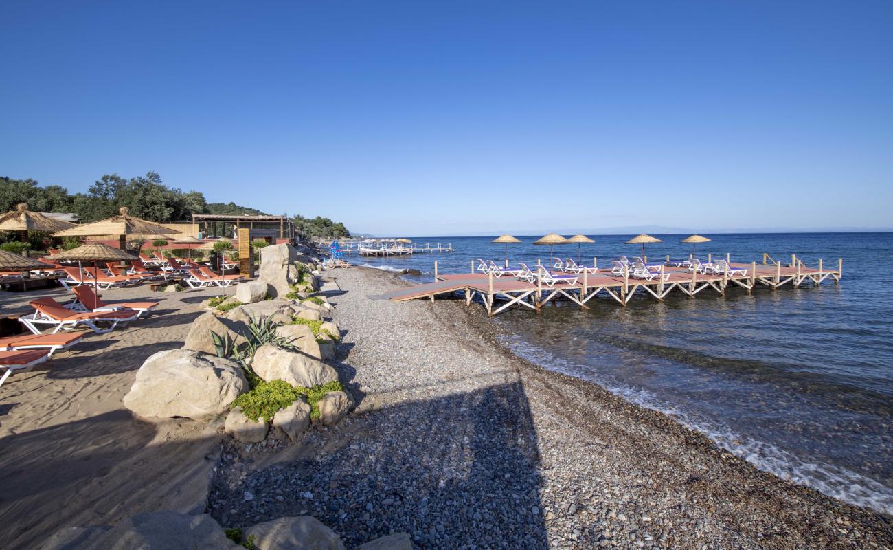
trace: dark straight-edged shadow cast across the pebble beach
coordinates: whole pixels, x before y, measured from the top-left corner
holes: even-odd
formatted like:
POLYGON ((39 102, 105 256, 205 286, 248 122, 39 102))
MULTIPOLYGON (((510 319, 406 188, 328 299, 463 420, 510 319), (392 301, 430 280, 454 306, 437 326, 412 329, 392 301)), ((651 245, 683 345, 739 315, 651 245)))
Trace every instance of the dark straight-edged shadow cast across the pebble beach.
POLYGON ((209 499, 228 527, 310 513, 347 547, 399 531, 422 548, 547 547, 537 439, 519 382, 312 428, 289 448, 305 456, 271 457, 280 462, 249 471, 244 483, 244 468, 231 463, 239 446, 225 453, 230 464, 209 499))

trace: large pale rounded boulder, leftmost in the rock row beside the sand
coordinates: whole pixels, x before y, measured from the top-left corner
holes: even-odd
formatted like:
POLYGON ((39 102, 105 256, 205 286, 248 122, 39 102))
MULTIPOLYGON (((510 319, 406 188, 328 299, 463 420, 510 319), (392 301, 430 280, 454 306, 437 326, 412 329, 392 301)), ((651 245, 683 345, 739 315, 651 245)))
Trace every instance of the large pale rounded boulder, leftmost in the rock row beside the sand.
POLYGON ((150 355, 124 406, 141 417, 207 420, 226 412, 248 391, 242 368, 233 361, 190 350, 150 355))

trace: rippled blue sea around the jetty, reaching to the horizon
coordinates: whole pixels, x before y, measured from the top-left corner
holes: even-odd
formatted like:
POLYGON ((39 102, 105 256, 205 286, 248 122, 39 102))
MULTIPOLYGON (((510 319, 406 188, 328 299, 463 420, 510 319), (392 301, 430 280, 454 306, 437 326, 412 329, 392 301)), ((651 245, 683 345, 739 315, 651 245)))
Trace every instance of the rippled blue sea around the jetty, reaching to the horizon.
MULTIPOLYGON (((590 235, 580 257, 606 267, 618 254, 638 255, 629 236, 590 235)), ((656 235, 652 259, 685 257, 686 235, 656 235)), ((789 262, 796 253, 814 266, 844 258, 839 284, 826 280, 748 295, 730 286, 726 297, 705 289, 690 300, 671 292, 663 302, 637 296, 622 308, 609 297, 591 309, 569 304, 539 315, 515 309, 494 317, 505 343, 545 368, 604 385, 630 401, 663 410, 710 436, 756 467, 849 503, 893 514, 893 233, 710 235, 697 247, 733 261, 762 262, 763 253, 789 262)), ((536 263, 548 247, 519 237, 509 259, 536 263)), ((358 258, 356 264, 414 268, 429 282, 467 272, 472 258, 500 260, 493 237, 419 237, 451 242, 452 254, 358 258)), ((577 245, 555 247, 578 257, 577 245)), ((481 312, 483 315, 483 312, 481 312)))

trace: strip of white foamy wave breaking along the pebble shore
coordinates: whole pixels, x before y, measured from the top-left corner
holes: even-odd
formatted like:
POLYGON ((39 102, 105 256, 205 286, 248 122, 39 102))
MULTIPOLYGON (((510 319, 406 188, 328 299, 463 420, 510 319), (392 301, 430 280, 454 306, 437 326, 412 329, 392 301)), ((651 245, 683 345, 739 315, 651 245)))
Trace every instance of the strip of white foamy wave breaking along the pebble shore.
POLYGON ((599 374, 598 379, 588 379, 581 376, 581 373, 591 372, 585 365, 555 357, 549 351, 525 342, 519 337, 502 336, 500 340, 510 351, 542 368, 596 383, 628 402, 671 416, 683 426, 704 434, 725 451, 750 462, 759 470, 770 472, 798 485, 812 487, 824 495, 843 502, 893 515, 893 489, 872 478, 834 464, 807 461, 774 444, 741 436, 727 427, 716 425, 709 419, 700 418, 663 402, 655 393, 623 385, 610 376, 599 374))

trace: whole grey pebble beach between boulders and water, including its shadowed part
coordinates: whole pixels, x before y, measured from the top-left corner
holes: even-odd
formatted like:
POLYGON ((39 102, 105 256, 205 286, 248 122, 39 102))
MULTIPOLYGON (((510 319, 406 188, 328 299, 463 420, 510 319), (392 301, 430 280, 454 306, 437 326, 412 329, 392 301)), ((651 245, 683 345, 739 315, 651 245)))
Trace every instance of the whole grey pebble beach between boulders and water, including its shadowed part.
POLYGON ((347 547, 893 548, 890 518, 513 356, 480 306, 371 300, 407 283, 334 275, 358 408, 299 444, 226 444, 208 506, 228 527, 309 513, 347 547))

